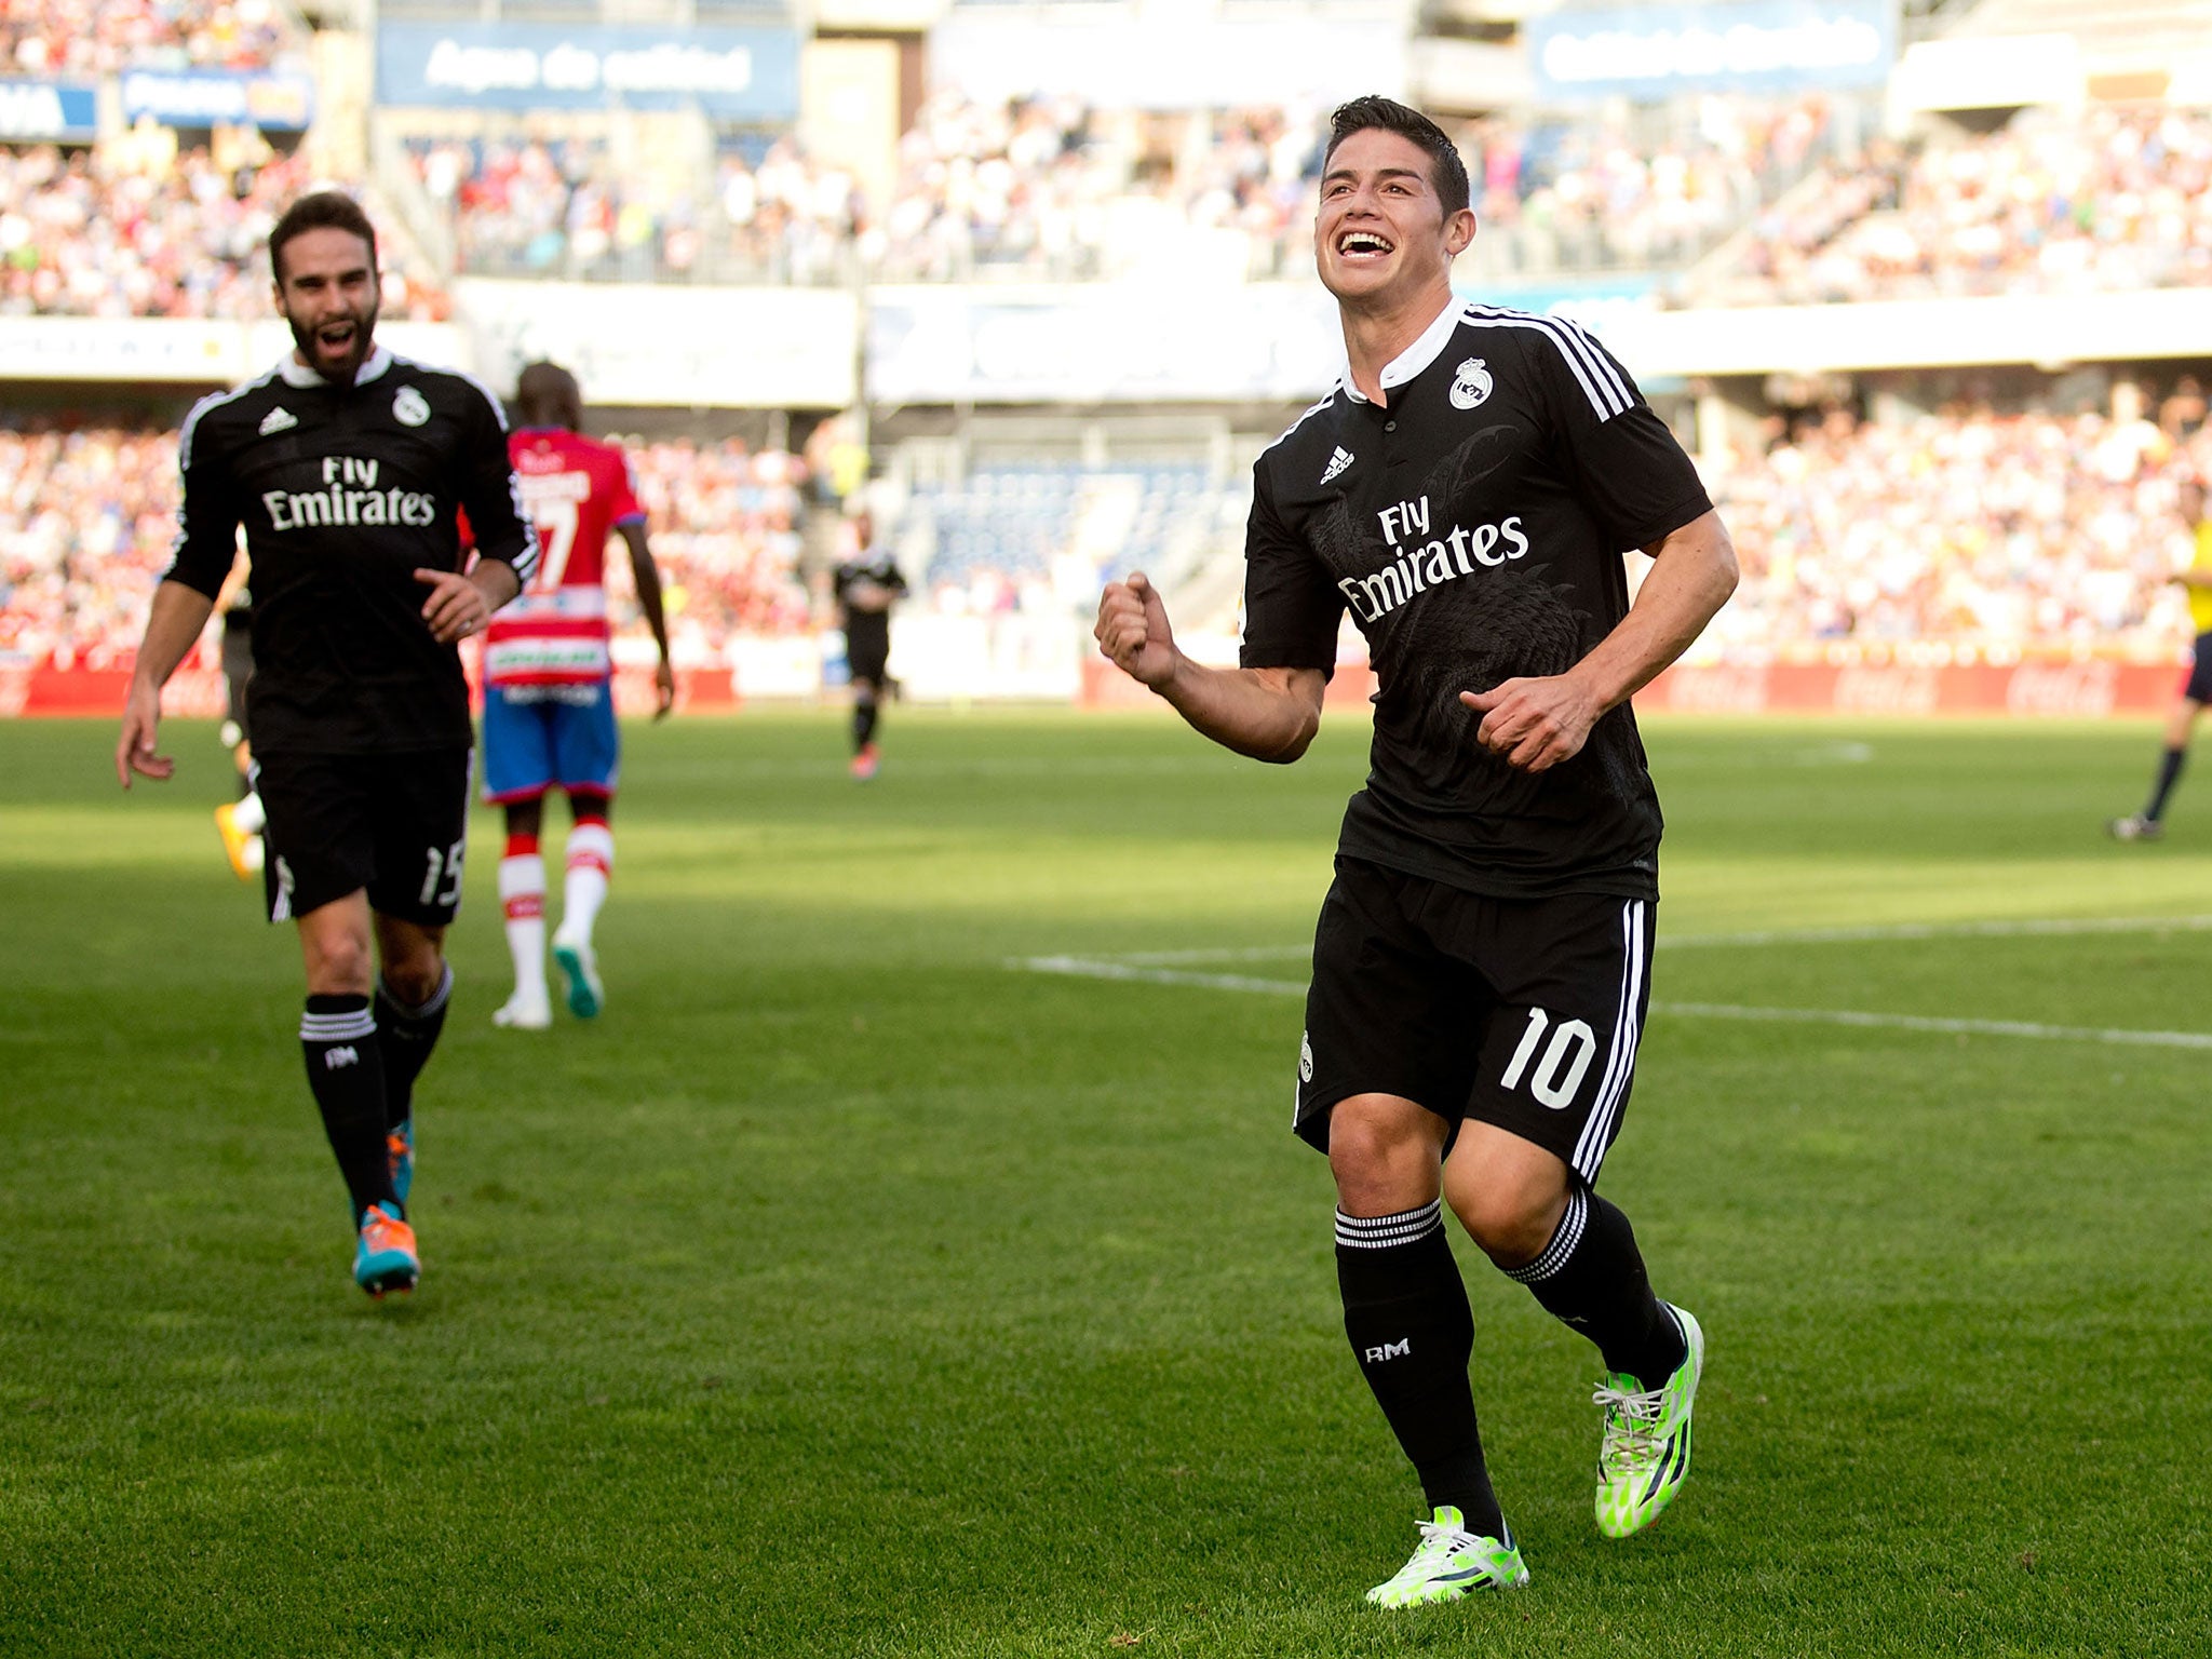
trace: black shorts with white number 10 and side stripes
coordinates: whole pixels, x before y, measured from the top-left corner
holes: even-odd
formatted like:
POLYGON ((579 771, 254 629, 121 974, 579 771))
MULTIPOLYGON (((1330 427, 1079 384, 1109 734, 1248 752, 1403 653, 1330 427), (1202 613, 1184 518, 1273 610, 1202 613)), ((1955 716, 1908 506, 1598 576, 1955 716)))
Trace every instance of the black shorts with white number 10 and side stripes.
POLYGON ((1296 1130, 1329 1150, 1329 1110, 1400 1095, 1495 1124, 1597 1181, 1621 1130, 1650 1004, 1652 900, 1489 898, 1336 860, 1314 929, 1296 1130))

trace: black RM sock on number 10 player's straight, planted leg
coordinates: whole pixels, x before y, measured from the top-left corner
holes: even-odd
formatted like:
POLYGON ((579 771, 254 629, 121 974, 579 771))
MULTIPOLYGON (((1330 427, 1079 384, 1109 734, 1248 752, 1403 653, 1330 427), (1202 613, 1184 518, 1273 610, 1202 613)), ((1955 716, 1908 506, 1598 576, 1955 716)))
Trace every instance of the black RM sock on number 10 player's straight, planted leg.
POLYGON ((1336 1287, 1345 1336, 1376 1405, 1420 1475, 1429 1509, 1451 1504, 1467 1531, 1504 1537, 1482 1462, 1467 1358, 1475 1321, 1440 1203, 1385 1217, 1336 1212, 1336 1287))

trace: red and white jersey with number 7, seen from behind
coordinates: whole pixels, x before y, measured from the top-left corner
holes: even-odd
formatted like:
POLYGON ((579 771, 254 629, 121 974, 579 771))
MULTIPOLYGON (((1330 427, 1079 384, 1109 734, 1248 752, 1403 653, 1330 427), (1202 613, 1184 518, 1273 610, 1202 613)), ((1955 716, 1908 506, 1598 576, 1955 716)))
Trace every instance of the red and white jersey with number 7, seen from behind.
POLYGON ((606 538, 646 515, 624 453, 597 438, 531 427, 507 438, 522 511, 538 526, 538 573, 491 619, 484 681, 573 686, 606 679, 606 538))

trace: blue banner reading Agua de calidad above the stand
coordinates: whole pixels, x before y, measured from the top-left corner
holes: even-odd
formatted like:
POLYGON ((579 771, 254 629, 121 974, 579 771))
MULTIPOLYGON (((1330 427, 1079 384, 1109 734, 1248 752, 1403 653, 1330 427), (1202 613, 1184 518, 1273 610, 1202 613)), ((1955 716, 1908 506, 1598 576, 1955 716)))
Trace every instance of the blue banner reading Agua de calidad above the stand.
POLYGON ((445 108, 701 108, 723 119, 799 117, 790 29, 650 29, 387 22, 376 102, 445 108))

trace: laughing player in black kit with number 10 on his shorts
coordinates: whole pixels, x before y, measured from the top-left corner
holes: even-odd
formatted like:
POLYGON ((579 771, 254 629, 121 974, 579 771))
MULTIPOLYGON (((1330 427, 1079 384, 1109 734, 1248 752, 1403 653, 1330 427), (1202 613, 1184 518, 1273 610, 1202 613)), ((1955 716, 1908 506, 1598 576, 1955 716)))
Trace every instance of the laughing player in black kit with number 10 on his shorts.
POLYGON ((1467 1380, 1473 1318, 1440 1197, 1597 1343, 1597 1526, 1626 1537, 1690 1467, 1703 1334, 1652 1296, 1597 1197, 1650 1000, 1659 801, 1628 697, 1697 639, 1736 560, 1690 460, 1571 323, 1469 305, 1467 170, 1425 115, 1336 111, 1316 219, 1336 389, 1261 456, 1241 668, 1175 648, 1141 577, 1099 648, 1239 754, 1294 761, 1345 608, 1380 690, 1314 936, 1296 1130, 1336 1177, 1345 1334, 1433 1520, 1367 1593, 1513 1588, 1467 1380), (1621 553, 1655 555, 1628 604, 1621 553))

